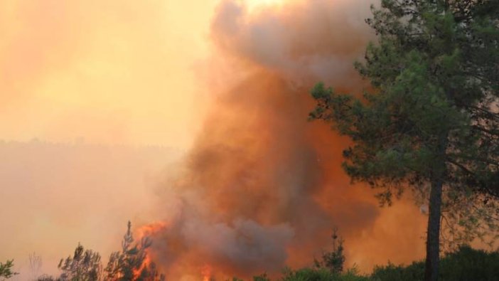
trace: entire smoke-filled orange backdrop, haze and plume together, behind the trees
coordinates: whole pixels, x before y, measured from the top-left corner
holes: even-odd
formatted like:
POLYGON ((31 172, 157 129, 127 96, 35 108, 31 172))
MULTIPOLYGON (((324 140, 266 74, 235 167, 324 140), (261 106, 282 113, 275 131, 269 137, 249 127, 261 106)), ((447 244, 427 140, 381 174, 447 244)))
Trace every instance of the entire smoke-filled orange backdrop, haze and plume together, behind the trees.
POLYGON ((127 219, 172 280, 311 265, 334 226, 361 270, 421 258, 419 208, 378 208, 307 121, 313 83, 365 87, 370 3, 1 1, 0 260, 106 260, 127 219))

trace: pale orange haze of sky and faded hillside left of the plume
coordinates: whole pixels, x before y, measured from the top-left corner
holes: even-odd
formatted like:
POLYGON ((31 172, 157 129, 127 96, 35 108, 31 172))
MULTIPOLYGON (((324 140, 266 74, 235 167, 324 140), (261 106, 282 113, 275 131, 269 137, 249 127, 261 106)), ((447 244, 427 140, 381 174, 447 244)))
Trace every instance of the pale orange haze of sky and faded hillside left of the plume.
POLYGON ((56 272, 78 241, 105 258, 149 222, 148 179, 179 151, 91 144, 191 146, 218 2, 0 1, 0 260, 20 280, 31 251, 56 272))

